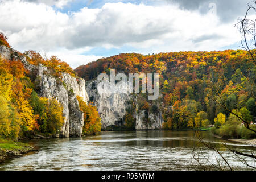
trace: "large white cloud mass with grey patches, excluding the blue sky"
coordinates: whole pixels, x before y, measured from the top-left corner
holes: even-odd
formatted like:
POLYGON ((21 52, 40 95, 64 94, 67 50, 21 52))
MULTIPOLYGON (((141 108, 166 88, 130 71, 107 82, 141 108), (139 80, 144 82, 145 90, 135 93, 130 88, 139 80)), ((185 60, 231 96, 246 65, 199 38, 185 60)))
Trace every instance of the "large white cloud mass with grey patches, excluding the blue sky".
POLYGON ((96 47, 133 46, 142 53, 209 51, 240 40, 235 22, 224 24, 210 12, 202 15, 172 4, 105 3, 100 9, 65 14, 44 3, 0 3, 0 31, 14 48, 51 52, 72 67, 96 59, 81 55, 96 47))

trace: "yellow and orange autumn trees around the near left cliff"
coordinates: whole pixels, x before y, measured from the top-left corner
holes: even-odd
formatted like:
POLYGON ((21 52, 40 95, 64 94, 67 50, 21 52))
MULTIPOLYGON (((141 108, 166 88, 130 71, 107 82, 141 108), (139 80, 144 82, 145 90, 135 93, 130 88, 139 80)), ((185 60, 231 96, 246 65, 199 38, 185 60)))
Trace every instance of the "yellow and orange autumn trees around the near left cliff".
MULTIPOLYGON (((7 38, 0 33, 0 45, 10 48, 7 38)), ((18 57, 22 53, 18 53, 18 57)), ((69 65, 56 56, 50 59, 34 51, 24 53, 27 60, 34 65, 44 64, 52 69, 52 75, 61 81, 61 72, 76 77, 69 65)), ((0 138, 30 138, 35 134, 54 136, 64 124, 63 106, 55 98, 39 97, 36 93, 35 75, 27 71, 20 60, 5 60, 0 56, 0 138)), ((81 100, 82 102, 82 100, 81 100)), ((95 107, 86 107, 84 133, 101 130, 98 112, 95 107), (88 113, 88 114, 87 114, 88 113), (89 126, 88 126, 89 125, 89 126), (95 125, 95 126, 94 126, 95 125)), ((81 110, 83 107, 81 108, 81 110)))

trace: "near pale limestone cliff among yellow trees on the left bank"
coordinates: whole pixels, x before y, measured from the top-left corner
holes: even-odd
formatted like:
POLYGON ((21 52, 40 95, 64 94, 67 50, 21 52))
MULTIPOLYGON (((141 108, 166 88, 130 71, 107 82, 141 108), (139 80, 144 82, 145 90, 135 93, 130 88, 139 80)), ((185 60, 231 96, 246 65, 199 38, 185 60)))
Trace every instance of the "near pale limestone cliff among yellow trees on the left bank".
MULTIPOLYGON (((0 55, 4 59, 11 59, 11 54, 15 52, 5 46, 0 46, 0 55)), ((14 54, 15 55, 15 54, 14 54)), ((24 68, 36 74, 35 87, 39 96, 55 97, 63 105, 64 125, 59 131, 60 137, 80 137, 84 125, 84 114, 80 111, 79 102, 76 96, 88 102, 89 98, 85 90, 85 80, 74 78, 68 73, 61 73, 62 79, 54 77, 51 72, 42 64, 38 66, 27 62, 24 56, 13 56, 15 60, 21 60, 24 68)), ((58 137, 58 136, 56 136, 58 137)))

